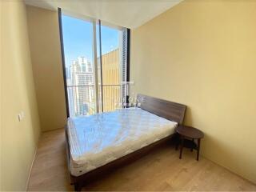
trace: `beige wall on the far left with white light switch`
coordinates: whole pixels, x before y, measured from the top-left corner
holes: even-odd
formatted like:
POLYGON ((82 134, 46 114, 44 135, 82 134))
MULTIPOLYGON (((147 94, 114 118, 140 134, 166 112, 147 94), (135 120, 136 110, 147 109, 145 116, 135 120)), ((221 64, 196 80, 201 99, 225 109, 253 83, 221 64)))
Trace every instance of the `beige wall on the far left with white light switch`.
POLYGON ((26 6, 1 1, 1 190, 26 190, 40 134, 26 6), (18 122, 18 113, 25 118, 18 122))

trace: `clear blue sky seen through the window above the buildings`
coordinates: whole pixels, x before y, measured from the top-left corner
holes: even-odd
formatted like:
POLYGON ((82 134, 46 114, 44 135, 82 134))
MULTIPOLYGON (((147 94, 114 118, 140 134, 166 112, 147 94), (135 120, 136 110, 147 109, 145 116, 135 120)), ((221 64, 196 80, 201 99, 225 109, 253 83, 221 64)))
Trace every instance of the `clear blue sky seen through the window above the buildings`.
MULTIPOLYGON (((110 50, 118 48, 120 31, 107 26, 102 26, 101 28, 102 54, 106 54, 110 50)), ((62 32, 66 66, 70 66, 79 56, 84 56, 91 62, 93 56, 93 24, 78 18, 62 15, 62 32)))

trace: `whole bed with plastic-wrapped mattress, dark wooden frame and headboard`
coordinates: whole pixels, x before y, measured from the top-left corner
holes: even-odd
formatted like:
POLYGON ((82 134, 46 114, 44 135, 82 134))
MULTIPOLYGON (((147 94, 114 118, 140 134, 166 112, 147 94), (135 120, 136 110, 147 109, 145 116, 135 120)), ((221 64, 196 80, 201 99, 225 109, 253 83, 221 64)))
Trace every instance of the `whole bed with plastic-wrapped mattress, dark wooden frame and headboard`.
POLYGON ((137 101, 134 107, 68 119, 67 163, 76 191, 174 137, 186 106, 142 94, 137 101))

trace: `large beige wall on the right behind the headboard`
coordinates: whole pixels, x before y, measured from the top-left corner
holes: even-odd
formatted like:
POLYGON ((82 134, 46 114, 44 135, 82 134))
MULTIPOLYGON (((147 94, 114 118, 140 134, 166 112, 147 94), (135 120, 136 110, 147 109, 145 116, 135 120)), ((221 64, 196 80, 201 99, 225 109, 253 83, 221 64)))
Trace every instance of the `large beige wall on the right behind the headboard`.
POLYGON ((132 30, 136 93, 188 106, 202 154, 256 182, 256 2, 185 1, 132 30))

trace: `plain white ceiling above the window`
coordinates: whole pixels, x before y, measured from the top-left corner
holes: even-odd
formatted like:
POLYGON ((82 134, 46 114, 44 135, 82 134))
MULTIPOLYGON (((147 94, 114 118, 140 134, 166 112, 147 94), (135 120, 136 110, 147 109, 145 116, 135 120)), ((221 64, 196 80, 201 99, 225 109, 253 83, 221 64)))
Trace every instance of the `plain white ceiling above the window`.
POLYGON ((25 2, 49 10, 57 10, 60 7, 70 13, 98 18, 134 29, 182 0, 25 0, 25 2))

